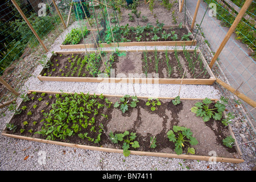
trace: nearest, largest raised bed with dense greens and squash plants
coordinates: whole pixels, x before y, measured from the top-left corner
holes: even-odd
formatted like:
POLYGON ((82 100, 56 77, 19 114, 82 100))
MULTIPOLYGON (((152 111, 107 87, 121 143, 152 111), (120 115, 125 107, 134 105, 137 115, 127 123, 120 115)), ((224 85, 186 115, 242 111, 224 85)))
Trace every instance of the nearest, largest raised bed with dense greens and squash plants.
MULTIPOLYGON (((127 96, 125 100, 130 100, 128 103, 133 105, 128 105, 128 110, 123 112, 118 106, 122 98, 29 90, 27 97, 24 97, 27 100, 16 109, 21 113, 13 115, 2 135, 124 155, 129 151, 129 154, 135 155, 208 161, 212 159, 209 152, 214 151, 216 162, 243 162, 238 147, 224 145, 226 137, 233 137, 230 127, 224 128, 221 121, 213 118, 204 122, 192 113, 191 108, 201 100, 181 99, 180 104, 174 105, 174 98, 159 98, 160 104, 154 110, 152 105, 147 104, 146 97, 133 96, 134 100, 131 100, 127 96), (181 143, 184 147, 180 154, 171 142, 171 130, 176 132, 176 129, 185 128, 186 136, 190 135, 189 139, 194 143, 193 146, 181 143), (189 148, 185 147, 187 145, 189 148), (193 154, 187 155, 188 150, 193 154)), ((218 101, 212 102, 211 109, 218 101)))

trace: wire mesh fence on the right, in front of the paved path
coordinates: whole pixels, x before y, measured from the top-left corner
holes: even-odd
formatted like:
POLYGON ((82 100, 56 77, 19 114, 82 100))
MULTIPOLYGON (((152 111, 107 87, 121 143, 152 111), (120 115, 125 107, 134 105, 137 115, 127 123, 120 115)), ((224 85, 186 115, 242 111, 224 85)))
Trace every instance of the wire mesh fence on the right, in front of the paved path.
MULTIPOLYGON (((229 27, 234 22, 237 11, 230 10, 231 6, 224 6, 224 2, 230 1, 215 1, 207 0, 200 3, 199 11, 196 16, 196 28, 200 29, 201 35, 204 36, 204 42, 210 47, 212 55, 217 51, 224 40, 229 27), (230 9, 229 9, 230 8, 230 9), (205 11, 206 14, 205 14, 205 11), (205 16, 204 16, 205 15, 205 16), (200 24, 201 23, 201 24, 200 24), (200 24, 200 27, 199 27, 200 24)), ((242 7, 241 1, 233 1, 239 8, 242 7)), ((196 9, 197 0, 187 1, 187 10, 193 17, 196 9)), ((226 4, 225 4, 226 5, 226 4)), ((250 15, 250 22, 243 18, 238 24, 236 31, 222 49, 220 56, 218 56, 217 63, 214 64, 212 70, 216 77, 228 83, 233 88, 239 90, 245 96, 255 101, 255 1, 246 11, 250 15), (244 31, 246 30, 246 31, 244 31), (253 36, 251 36, 253 35, 253 36)), ((245 16, 243 16, 245 17, 245 16)), ((196 29, 197 30, 197 29, 196 29)), ((210 60, 209 60, 210 61, 210 60)), ((252 110, 249 104, 243 100, 235 97, 228 90, 223 89, 219 85, 222 94, 230 98, 230 106, 233 107, 237 116, 242 115, 245 111, 250 111, 247 117, 242 118, 242 128, 246 130, 247 140, 255 139, 256 126, 256 111, 252 110), (243 107, 241 107, 243 106, 243 107), (243 111, 245 108, 245 111, 243 111), (243 122, 247 121, 247 122, 243 122), (248 125, 245 126, 245 123, 248 125)), ((244 134, 244 133, 243 133, 244 134)), ((255 144, 255 142, 254 142, 255 144)), ((255 151, 254 151, 255 152, 255 151)))

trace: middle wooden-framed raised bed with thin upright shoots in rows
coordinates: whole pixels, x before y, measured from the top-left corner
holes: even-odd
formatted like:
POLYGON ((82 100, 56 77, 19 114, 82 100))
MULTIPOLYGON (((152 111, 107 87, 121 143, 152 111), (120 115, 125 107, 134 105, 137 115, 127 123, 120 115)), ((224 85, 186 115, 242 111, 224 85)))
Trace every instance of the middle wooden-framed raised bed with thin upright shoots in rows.
POLYGON ((88 51, 89 59, 84 60, 84 56, 82 51, 55 52, 51 63, 39 73, 39 80, 206 85, 216 81, 204 56, 197 50, 104 51, 101 56, 96 51, 88 51), (110 72, 111 69, 114 72, 110 72))

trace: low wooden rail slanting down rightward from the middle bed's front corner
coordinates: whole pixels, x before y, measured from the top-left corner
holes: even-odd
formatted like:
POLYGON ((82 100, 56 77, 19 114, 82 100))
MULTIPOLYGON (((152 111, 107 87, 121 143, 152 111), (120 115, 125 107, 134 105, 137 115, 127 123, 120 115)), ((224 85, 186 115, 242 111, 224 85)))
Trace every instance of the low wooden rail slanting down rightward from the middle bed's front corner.
POLYGON ((216 82, 223 86, 225 89, 229 90, 233 94, 235 94, 237 97, 241 98, 241 100, 245 101, 247 104, 249 104, 252 107, 256 107, 256 102, 251 100, 251 98, 245 96, 245 94, 242 94, 241 92, 234 89, 232 86, 226 84, 224 81, 220 80, 219 78, 216 78, 216 82))

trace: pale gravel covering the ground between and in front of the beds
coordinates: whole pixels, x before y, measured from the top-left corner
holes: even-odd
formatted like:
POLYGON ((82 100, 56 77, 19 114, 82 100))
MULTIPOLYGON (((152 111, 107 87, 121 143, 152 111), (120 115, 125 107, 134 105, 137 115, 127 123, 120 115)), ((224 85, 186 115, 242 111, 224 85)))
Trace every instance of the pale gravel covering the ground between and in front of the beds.
MULTIPOLYGON (((70 26, 68 29, 74 26, 70 26)), ((63 42, 63 37, 67 34, 65 30, 63 34, 56 39, 52 45, 51 51, 60 51, 59 45, 63 42)), ((126 47, 124 49, 141 49, 139 47, 126 47)), ((147 47, 149 49, 150 47, 147 47)), ((159 47, 166 49, 166 47, 159 47)), ((169 47, 172 48, 172 47, 169 47)), ((193 48, 193 47, 192 47, 193 48)), ((121 49, 121 48, 120 48, 121 49)), ((154 49, 154 48, 152 48, 154 49)), ((62 49, 61 51, 68 51, 62 49)), ((77 49, 73 49, 77 51, 77 49)), ((50 54, 48 55, 50 56, 50 54)), ((130 84, 101 84, 101 83, 85 83, 85 82, 41 82, 36 78, 41 71, 42 66, 39 65, 35 69, 32 76, 24 84, 23 92, 26 90, 46 90, 59 92, 90 92, 104 94, 134 94, 134 90, 130 84), (113 89, 114 88, 114 89, 113 89), (127 89, 126 89, 127 88, 127 89)), ((145 89, 147 85, 134 84, 135 92, 138 96, 148 96, 152 94, 145 89)), ((179 92, 180 85, 158 85, 159 97, 176 97, 179 92)), ((182 85, 180 97, 182 98, 220 98, 219 90, 214 85, 182 85)), ((20 100, 17 101, 18 104, 20 100)), ((0 119, 0 129, 5 128, 5 123, 9 121, 11 113, 6 111, 6 116, 0 119)), ((28 140, 13 139, 0 135, 0 170, 143 170, 143 171, 234 171, 234 170, 251 170, 255 166, 255 156, 250 148, 241 146, 243 152, 242 158, 245 160, 241 164, 233 163, 216 163, 210 164, 205 161, 183 160, 172 158, 160 158, 153 156, 130 155, 128 157, 122 154, 109 152, 83 150, 80 148, 71 148, 57 146, 53 144, 31 142, 28 140)))

